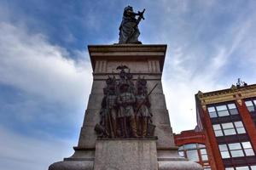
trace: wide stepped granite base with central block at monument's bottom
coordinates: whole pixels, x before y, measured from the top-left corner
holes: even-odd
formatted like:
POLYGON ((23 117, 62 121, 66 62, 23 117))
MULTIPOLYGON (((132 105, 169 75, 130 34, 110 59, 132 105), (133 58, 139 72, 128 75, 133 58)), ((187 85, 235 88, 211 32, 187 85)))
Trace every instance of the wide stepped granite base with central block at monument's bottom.
POLYGON ((202 170, 178 157, 177 147, 156 149, 156 139, 101 139, 96 149, 74 147, 73 156, 49 170, 202 170))

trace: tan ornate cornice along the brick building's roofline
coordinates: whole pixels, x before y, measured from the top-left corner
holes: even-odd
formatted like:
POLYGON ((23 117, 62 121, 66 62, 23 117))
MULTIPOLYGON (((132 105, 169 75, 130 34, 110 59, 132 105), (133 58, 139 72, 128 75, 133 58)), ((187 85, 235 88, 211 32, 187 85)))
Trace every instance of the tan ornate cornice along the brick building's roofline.
POLYGON ((256 84, 247 85, 237 88, 232 85, 231 88, 224 90, 218 90, 208 93, 202 93, 199 91, 195 94, 195 98, 199 99, 201 105, 210 105, 215 103, 221 103, 230 100, 237 100, 241 102, 241 99, 252 98, 256 96, 256 84))

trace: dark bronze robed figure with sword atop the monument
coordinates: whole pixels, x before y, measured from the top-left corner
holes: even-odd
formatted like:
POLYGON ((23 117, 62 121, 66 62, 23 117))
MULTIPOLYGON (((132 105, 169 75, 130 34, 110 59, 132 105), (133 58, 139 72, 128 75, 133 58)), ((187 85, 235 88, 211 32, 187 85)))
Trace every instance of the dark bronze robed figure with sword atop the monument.
POLYGON ((123 20, 119 26, 119 43, 135 43, 142 44, 138 41, 140 31, 138 24, 143 19, 145 9, 143 12, 138 11, 135 13, 131 6, 127 6, 124 9, 123 20), (138 15, 138 18, 136 16, 138 15))

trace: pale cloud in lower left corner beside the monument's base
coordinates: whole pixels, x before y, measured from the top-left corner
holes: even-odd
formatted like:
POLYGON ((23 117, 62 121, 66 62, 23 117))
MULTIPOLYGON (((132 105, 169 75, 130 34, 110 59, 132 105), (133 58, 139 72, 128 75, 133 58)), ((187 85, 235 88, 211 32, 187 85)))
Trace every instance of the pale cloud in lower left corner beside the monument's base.
POLYGON ((0 127, 1 169, 45 170, 55 161, 73 154, 74 141, 39 140, 0 127))

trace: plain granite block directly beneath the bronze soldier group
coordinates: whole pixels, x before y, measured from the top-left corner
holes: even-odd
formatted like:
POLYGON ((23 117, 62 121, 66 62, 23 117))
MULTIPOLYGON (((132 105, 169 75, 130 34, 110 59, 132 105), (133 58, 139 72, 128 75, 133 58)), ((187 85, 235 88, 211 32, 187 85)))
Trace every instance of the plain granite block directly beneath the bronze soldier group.
POLYGON ((157 170, 154 139, 96 141, 94 170, 157 170))

